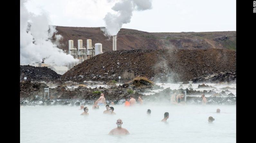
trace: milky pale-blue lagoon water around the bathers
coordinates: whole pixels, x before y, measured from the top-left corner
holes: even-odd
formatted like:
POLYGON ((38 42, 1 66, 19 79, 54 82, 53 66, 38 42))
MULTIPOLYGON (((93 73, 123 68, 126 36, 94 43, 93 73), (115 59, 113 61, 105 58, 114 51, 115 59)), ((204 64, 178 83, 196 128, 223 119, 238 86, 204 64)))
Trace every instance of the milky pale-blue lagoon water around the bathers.
POLYGON ((20 142, 197 142, 233 143, 236 141, 236 106, 234 105, 114 105, 117 115, 104 115, 105 107, 89 108, 89 116, 81 116, 80 107, 25 106, 20 108, 20 142), (216 109, 221 113, 217 114, 216 109), (147 115, 151 109, 151 115, 147 115), (161 122, 169 112, 167 123, 161 122), (208 117, 215 121, 208 123, 208 117), (115 137, 108 133, 116 128, 116 120, 130 135, 115 137))

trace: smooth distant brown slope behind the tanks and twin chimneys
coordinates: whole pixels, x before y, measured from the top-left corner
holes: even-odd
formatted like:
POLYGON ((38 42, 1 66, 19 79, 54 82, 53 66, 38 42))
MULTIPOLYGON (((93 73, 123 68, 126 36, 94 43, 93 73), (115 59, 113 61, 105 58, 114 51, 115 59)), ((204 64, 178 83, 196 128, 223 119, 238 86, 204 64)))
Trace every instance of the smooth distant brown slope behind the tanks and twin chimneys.
MULTIPOLYGON (((112 37, 104 36, 100 28, 61 27, 57 26, 57 34, 63 36, 59 48, 68 50, 68 40, 92 39, 92 45, 101 43, 103 52, 112 51, 112 37)), ((117 34, 117 50, 131 49, 236 49, 236 31, 223 32, 181 32, 181 33, 149 33, 122 28, 117 34), (225 38, 227 37, 227 38, 225 38)))

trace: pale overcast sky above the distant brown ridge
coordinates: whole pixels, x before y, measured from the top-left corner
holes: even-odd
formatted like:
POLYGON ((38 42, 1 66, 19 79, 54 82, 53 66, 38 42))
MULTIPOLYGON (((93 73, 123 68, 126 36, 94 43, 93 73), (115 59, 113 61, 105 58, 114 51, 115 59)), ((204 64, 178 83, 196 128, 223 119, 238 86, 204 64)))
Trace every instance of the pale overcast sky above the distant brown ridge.
MULTIPOLYGON (((28 0, 29 12, 47 13, 50 24, 105 27, 107 12, 120 0, 28 0)), ((146 32, 236 31, 235 0, 152 0, 152 8, 133 11, 122 28, 146 32)))

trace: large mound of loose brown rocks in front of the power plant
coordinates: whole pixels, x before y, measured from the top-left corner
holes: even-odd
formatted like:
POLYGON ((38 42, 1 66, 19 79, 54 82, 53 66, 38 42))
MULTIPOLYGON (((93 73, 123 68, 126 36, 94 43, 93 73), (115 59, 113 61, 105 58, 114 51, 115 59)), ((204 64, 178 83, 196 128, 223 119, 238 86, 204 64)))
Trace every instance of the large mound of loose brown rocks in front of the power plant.
POLYGON ((236 79, 236 51, 206 50, 121 50, 105 52, 78 64, 61 77, 61 81, 128 82, 146 76, 158 82, 196 82, 207 76, 215 82, 236 79), (227 74, 220 74, 220 73, 227 74), (218 78, 221 77, 221 78, 218 78), (224 76, 228 76, 225 78, 224 76), (234 77, 235 76, 235 77, 234 77), (219 80, 220 79, 220 80, 219 80))

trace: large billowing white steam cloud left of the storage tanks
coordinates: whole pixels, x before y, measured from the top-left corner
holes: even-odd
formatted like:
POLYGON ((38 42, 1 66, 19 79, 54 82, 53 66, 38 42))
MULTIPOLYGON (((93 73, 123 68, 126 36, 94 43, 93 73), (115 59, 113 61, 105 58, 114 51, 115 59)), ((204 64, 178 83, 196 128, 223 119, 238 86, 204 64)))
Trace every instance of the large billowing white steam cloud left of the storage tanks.
MULTIPOLYGON (((62 66, 76 61, 51 42, 57 30, 55 26, 49 26, 49 15, 43 13, 36 16, 28 12, 25 2, 20 1, 20 63, 30 64, 45 59, 45 63, 54 62, 62 66)), ((62 36, 55 34, 55 38, 58 41, 62 36)))

